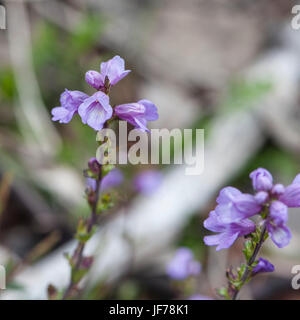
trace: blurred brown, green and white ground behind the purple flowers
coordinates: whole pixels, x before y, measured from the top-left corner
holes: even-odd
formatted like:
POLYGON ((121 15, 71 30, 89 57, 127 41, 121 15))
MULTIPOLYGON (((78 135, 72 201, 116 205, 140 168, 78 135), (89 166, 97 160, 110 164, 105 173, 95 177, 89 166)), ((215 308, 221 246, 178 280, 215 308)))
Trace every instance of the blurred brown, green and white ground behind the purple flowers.
MULTIPOLYGON (((251 192, 249 173, 265 167, 289 184, 300 172, 300 31, 289 0, 11 0, 0 30, 0 263, 3 299, 44 299, 63 288, 78 218, 89 213, 82 170, 95 155, 95 132, 74 117, 51 121, 65 88, 93 91, 87 70, 120 55, 132 72, 112 92, 113 104, 146 98, 159 111, 153 128, 205 130, 205 168, 122 166, 115 207, 87 252, 95 253, 85 299, 216 298, 225 269, 242 261, 205 247, 203 220, 221 187, 251 192), (146 194, 134 179, 161 179, 146 194), (147 176, 146 176, 147 177, 147 176), (145 178, 147 179, 147 178, 145 178), (202 264, 196 279, 166 275, 176 248, 202 264), (184 290, 182 288, 184 287, 184 290)), ((180 146, 173 146, 174 148, 180 146)), ((149 182, 151 184, 151 181, 149 182)), ((300 264, 300 210, 290 210, 293 239, 268 241, 275 265, 243 289, 245 299, 298 299, 291 268, 300 264)))

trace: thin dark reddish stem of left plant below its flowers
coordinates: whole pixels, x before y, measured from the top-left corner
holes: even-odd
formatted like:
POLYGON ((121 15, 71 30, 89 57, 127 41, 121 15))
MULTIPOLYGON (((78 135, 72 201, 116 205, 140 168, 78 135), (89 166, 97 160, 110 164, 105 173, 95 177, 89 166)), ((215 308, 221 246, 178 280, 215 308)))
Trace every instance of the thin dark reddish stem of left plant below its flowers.
MULTIPOLYGON (((99 172, 98 177, 96 179, 95 199, 94 199, 93 205, 92 205, 91 218, 89 220, 88 227, 87 227, 88 233, 91 232, 93 226, 97 222, 97 205, 98 205, 99 196, 100 196, 101 180, 102 180, 102 167, 100 168, 100 172, 99 172)), ((84 248, 85 248, 85 243, 79 241, 77 244, 77 247, 73 253, 73 256, 72 256, 72 260, 75 261, 75 266, 74 266, 72 272, 74 272, 74 271, 76 272, 80 268, 80 265, 81 265, 81 262, 83 259, 84 248)), ((74 283, 74 281, 72 279, 72 272, 71 272, 69 285, 68 285, 68 287, 63 295, 63 298, 62 298, 63 300, 67 299, 71 295, 73 288, 76 285, 76 283, 74 283)))

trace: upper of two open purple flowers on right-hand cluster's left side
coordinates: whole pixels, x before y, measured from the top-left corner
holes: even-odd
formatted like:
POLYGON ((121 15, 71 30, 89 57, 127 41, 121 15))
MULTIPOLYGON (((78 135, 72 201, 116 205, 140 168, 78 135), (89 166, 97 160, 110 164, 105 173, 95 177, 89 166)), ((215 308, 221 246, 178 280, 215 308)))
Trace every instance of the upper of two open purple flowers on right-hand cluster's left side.
POLYGON ((215 211, 225 223, 249 218, 261 210, 260 203, 250 194, 243 194, 233 187, 223 188, 217 198, 215 211))

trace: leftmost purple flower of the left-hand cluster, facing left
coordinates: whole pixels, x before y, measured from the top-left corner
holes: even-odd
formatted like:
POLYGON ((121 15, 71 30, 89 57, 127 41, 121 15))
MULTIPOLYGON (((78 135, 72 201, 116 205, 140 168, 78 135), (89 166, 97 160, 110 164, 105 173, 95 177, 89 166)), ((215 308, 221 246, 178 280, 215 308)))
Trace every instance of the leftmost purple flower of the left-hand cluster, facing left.
POLYGON ((77 113, 78 107, 89 96, 81 91, 70 91, 66 89, 60 96, 60 107, 53 108, 52 120, 60 123, 68 123, 73 115, 77 113))

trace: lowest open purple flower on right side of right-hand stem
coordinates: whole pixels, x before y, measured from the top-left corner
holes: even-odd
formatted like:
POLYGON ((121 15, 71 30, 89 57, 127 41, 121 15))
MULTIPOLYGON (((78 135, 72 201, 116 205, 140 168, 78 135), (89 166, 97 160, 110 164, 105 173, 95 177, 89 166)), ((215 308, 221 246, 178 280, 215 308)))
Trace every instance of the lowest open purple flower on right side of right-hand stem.
POLYGON ((288 207, 281 201, 273 201, 270 205, 270 214, 267 217, 267 230, 273 242, 279 248, 287 246, 291 240, 291 232, 286 226, 288 207))

